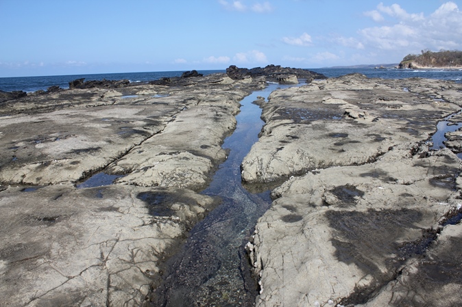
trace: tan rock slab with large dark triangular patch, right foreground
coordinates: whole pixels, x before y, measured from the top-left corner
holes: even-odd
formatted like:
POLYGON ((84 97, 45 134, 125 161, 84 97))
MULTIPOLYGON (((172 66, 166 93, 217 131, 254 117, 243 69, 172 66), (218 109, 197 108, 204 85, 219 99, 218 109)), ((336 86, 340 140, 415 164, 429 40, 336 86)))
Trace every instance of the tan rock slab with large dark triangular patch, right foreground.
POLYGON ((280 198, 252 240, 262 288, 256 306, 327 306, 393 280, 422 233, 457 206, 450 196, 460 189, 452 152, 421 158, 410 150, 308 172, 274 191, 280 198))

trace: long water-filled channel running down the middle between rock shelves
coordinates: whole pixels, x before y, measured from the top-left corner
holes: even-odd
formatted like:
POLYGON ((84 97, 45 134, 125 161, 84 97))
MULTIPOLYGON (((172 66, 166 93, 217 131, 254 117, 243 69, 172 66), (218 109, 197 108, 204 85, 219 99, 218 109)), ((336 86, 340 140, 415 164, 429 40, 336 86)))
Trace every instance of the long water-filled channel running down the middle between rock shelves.
POLYGON ((269 191, 250 193, 241 185, 240 167, 264 124, 261 109, 252 102, 288 86, 270 84, 241 101, 236 130, 223 144, 230 150, 228 159, 202 192, 218 196, 221 204, 191 230, 182 250, 167 263, 152 306, 254 306, 257 286, 243 246, 271 199, 269 191))

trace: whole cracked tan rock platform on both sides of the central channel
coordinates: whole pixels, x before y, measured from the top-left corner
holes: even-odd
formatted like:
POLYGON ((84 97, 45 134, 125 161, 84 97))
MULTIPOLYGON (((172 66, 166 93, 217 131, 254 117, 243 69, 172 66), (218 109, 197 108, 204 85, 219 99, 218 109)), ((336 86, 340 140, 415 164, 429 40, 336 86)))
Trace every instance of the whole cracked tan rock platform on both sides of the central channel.
POLYGON ((199 192, 239 101, 297 78, 256 101, 266 124, 241 165, 278 186, 247 244, 256 306, 462 304, 462 137, 430 138, 462 119, 462 85, 227 72, 0 95, 0 306, 149 306, 220 201, 199 192))

